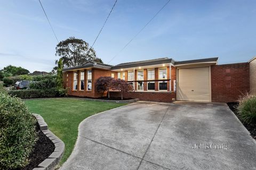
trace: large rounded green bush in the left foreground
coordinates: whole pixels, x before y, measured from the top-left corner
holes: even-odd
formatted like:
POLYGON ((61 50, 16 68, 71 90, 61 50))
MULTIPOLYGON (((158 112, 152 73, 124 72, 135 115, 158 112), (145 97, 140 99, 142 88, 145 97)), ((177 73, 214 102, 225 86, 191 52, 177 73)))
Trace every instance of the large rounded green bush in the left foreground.
POLYGON ((0 90, 0 169, 25 167, 37 135, 36 120, 16 97, 0 90))

